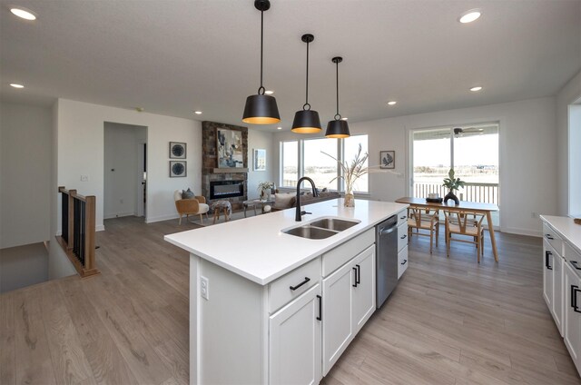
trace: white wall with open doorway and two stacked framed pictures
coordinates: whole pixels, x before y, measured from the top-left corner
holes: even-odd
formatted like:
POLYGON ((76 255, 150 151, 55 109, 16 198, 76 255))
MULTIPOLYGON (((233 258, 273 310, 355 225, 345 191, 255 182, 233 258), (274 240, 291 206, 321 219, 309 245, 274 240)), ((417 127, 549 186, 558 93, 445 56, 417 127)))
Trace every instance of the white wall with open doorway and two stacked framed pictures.
POLYGON ((202 123, 133 110, 58 101, 57 183, 97 197, 96 226, 103 230, 103 123, 142 125, 147 130, 146 222, 177 218, 173 191, 202 190, 202 123), (169 143, 187 143, 187 177, 170 178, 169 143), (81 175, 88 181, 81 182, 81 175))

